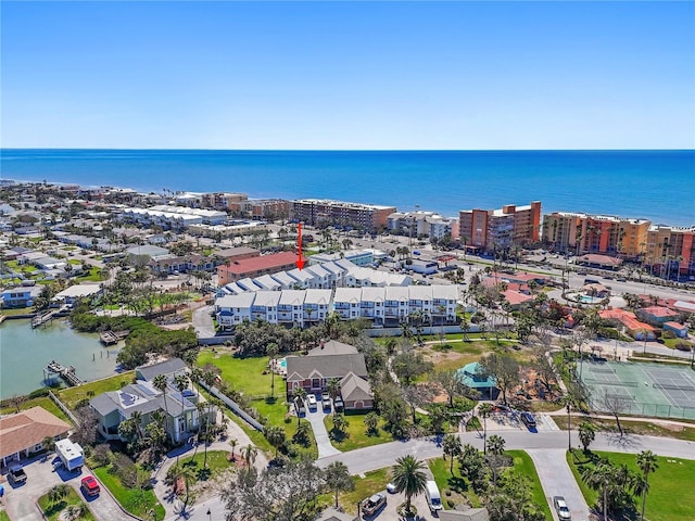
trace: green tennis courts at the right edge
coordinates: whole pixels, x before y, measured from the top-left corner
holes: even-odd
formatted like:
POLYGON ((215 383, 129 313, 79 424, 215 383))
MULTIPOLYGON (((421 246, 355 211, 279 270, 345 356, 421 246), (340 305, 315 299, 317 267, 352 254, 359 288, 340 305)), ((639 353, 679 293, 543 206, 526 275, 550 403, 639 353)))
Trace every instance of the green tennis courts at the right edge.
POLYGON ((605 395, 621 398, 624 414, 695 420, 695 372, 687 366, 584 360, 578 373, 595 410, 605 395))

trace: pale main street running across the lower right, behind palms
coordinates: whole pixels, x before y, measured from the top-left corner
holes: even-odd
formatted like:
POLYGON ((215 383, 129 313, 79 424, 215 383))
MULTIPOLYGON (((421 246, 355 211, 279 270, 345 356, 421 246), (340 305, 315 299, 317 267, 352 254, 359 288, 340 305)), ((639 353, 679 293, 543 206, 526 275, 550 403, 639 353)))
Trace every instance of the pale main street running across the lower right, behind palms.
MULTIPOLYGON (((563 431, 523 432, 501 431, 488 429, 488 435, 498 434, 506 441, 508 449, 552 449, 567 448, 568 435, 563 431)), ((477 433, 459 433, 464 444, 470 443, 482 450, 482 439, 477 433)), ((576 431, 571 434, 572 445, 579 447, 579 437, 576 431)), ((670 440, 655 436, 639 436, 610 433, 596 433, 596 440, 591 445, 594 450, 611 450, 620 453, 637 454, 641 450, 652 450, 659 456, 674 458, 695 459, 695 442, 670 440)), ((332 461, 342 461, 350 469, 351 474, 362 474, 370 470, 382 469, 394 465, 396 458, 412 454, 418 459, 430 459, 442 456, 441 444, 437 439, 424 437, 408 440, 406 442, 391 442, 372 447, 361 448, 342 453, 317 460, 319 467, 326 467, 332 461)))

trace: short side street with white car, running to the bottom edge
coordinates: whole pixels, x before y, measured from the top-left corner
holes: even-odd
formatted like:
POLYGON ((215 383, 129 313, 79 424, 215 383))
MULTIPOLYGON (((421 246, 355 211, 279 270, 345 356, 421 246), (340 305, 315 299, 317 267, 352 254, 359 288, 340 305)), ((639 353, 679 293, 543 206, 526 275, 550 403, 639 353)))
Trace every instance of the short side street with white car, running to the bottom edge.
POLYGON ((565 459, 564 448, 531 449, 528 450, 535 470, 541 480, 547 504, 551 506, 553 519, 557 520, 557 513, 553 507, 553 496, 563 496, 572 512, 573 521, 589 520, 589 505, 584 500, 582 491, 574 480, 574 475, 565 459))

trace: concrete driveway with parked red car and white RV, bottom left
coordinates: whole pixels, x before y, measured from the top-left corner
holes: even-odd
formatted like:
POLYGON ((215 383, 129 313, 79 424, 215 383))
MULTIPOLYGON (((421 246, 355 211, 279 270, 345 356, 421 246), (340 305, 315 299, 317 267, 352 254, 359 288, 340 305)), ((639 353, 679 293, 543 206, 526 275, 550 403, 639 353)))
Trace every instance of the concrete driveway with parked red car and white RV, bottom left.
POLYGON ((94 475, 87 467, 84 467, 79 473, 65 470, 54 471, 53 458, 54 456, 49 456, 47 459, 41 457, 24 462, 24 471, 27 475, 26 483, 17 487, 7 484, 5 505, 10 519, 13 521, 42 521, 43 517, 36 501, 53 485, 61 483, 68 484, 77 492, 80 498, 89 505, 97 520, 123 521, 128 518, 105 486, 101 485, 101 494, 94 498, 87 498, 81 493, 80 480, 86 475, 94 475))

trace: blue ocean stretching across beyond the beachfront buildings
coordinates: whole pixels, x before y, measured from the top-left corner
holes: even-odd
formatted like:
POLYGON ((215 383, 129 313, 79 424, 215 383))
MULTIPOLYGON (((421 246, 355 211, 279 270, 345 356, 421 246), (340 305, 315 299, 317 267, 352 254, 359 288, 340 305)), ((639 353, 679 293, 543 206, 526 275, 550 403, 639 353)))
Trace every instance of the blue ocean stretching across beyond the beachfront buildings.
POLYGON ((144 191, 327 198, 402 211, 498 208, 541 201, 586 212, 695 225, 695 151, 1 151, 3 179, 144 191))

